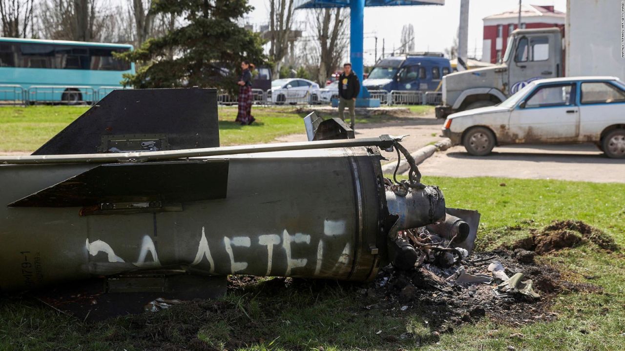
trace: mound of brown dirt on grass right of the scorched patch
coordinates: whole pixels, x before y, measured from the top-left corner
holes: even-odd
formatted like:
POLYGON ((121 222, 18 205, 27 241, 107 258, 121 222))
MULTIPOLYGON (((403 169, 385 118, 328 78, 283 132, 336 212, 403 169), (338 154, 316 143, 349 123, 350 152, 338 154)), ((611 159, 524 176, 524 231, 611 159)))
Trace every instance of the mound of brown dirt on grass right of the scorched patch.
POLYGON ((576 247, 587 241, 609 252, 619 250, 609 235, 581 220, 554 220, 541 231, 533 232, 530 237, 514 242, 511 249, 534 251, 542 255, 567 247, 576 247))

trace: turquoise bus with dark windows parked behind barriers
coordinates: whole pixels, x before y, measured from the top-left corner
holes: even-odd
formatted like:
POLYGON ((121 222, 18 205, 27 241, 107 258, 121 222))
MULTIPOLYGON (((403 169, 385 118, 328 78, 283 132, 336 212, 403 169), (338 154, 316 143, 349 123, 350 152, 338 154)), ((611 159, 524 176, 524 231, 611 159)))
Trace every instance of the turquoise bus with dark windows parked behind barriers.
POLYGON ((0 100, 93 103, 121 89, 134 63, 113 57, 133 46, 0 37, 0 100))

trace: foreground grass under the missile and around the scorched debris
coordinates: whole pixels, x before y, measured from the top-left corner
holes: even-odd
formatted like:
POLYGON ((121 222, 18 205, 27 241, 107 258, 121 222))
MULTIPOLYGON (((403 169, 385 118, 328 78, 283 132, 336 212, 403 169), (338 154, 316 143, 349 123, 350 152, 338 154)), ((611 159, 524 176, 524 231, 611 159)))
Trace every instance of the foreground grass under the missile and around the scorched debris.
MULTIPOLYGON (((439 185, 448 207, 481 212, 479 249, 511 242, 556 219, 583 220, 625 245, 625 184, 448 177, 426 177, 424 183, 439 185)), ((539 257, 539 262, 602 290, 559 295, 549 311, 557 313, 553 322, 517 326, 486 317, 440 340, 432 339, 416 310, 364 309, 372 302, 357 293, 361 284, 293 282, 284 288, 264 280, 217 302, 97 324, 28 297, 2 299, 0 350, 622 350, 622 253, 584 244, 539 257), (418 338, 401 340, 407 331, 418 338)))

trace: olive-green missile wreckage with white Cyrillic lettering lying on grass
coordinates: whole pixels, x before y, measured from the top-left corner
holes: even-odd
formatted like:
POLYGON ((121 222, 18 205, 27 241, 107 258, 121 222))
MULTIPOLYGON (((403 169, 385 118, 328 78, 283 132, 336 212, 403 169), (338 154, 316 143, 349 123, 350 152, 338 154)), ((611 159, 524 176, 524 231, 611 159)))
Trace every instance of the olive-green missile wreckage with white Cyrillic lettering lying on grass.
POLYGON ((176 297, 210 277, 365 281, 471 251, 479 214, 447 209, 400 138, 306 128, 219 147, 215 89, 112 92, 32 155, 0 157, 0 290, 98 278, 176 297), (409 179, 385 178, 380 150, 409 179))

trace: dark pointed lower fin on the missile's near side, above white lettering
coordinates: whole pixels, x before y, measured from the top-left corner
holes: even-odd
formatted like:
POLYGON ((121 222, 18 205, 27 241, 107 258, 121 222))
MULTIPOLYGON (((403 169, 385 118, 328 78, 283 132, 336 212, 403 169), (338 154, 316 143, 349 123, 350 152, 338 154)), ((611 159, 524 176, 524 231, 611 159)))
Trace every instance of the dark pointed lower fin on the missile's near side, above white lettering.
MULTIPOLYGON (((89 207, 100 209, 154 207, 154 203, 188 202, 226 197, 228 161, 103 164, 39 190, 12 207, 89 207)), ((160 205, 158 206, 160 207, 160 205)))

